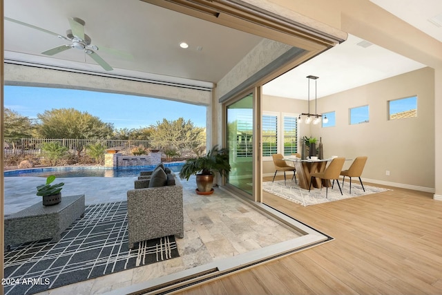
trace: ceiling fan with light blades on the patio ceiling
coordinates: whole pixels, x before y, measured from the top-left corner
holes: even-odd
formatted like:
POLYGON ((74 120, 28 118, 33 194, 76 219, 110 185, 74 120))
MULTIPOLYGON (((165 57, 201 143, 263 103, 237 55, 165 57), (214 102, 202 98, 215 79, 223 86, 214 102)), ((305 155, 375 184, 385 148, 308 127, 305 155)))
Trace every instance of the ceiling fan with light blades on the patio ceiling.
POLYGON ((46 32, 50 35, 55 35, 59 37, 60 39, 64 39, 66 41, 69 41, 70 44, 64 44, 61 46, 57 46, 55 48, 49 49, 44 51, 42 54, 44 55, 56 55, 57 53, 61 53, 65 50, 75 48, 79 50, 83 50, 85 54, 89 55, 94 59, 97 64, 102 66, 104 70, 113 70, 113 68, 106 62, 102 57, 97 55, 95 53, 95 50, 98 50, 98 47, 91 44, 92 39, 88 35, 84 33, 84 25, 86 22, 82 19, 79 19, 77 17, 73 17, 68 19, 70 24, 70 30, 66 30, 66 36, 59 35, 55 32, 51 32, 50 30, 46 30, 44 28, 39 28, 37 26, 33 26, 29 23, 23 23, 23 21, 17 21, 17 19, 10 19, 9 17, 5 17, 7 21, 12 21, 14 23, 19 23, 23 26, 27 26, 30 28, 34 28, 36 30, 40 30, 42 32, 46 32))

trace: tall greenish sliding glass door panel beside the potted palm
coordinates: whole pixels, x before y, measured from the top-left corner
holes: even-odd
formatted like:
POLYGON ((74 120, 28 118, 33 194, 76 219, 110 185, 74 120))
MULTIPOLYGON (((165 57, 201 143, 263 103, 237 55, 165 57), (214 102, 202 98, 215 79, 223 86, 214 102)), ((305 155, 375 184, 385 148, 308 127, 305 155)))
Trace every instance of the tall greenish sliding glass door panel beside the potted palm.
POLYGON ((227 183, 253 200, 253 93, 227 106, 227 146, 231 165, 227 183))

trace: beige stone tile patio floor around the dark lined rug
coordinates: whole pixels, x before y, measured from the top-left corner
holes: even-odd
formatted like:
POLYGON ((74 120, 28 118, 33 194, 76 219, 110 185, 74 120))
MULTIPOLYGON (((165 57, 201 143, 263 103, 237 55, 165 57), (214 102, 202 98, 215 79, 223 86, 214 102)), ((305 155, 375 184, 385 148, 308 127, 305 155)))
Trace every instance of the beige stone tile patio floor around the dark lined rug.
MULTIPOLYGON (((65 182, 63 196, 84 193, 87 204, 126 200, 135 178, 57 178, 65 182)), ((5 215, 41 202, 35 187, 44 178, 5 178, 5 215)), ((279 225, 248 204, 219 188, 210 196, 195 193, 195 178, 182 181, 184 238, 177 238, 179 258, 128 269, 39 294, 101 294, 104 292, 173 274, 215 260, 260 249, 301 234, 279 225)))

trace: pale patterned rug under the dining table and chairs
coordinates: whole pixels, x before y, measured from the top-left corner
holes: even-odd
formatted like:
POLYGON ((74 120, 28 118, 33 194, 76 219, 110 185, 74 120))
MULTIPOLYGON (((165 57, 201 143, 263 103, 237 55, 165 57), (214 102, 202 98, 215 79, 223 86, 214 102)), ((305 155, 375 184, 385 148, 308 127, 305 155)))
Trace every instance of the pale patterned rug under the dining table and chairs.
POLYGON ((334 188, 329 187, 328 196, 325 198, 325 187, 323 189, 312 188, 309 192, 308 189, 301 189, 295 180, 287 180, 287 185, 284 184, 284 180, 278 180, 275 182, 262 182, 262 189, 268 193, 272 193, 275 196, 285 198, 291 202, 301 204, 302 206, 309 206, 314 204, 321 204, 325 202, 333 202, 337 200, 343 200, 348 198, 365 196, 370 193, 380 193, 381 191, 387 191, 380 187, 370 187, 364 185, 365 191, 363 191, 361 184, 355 184, 352 182, 352 193, 349 193, 349 183, 345 182, 343 189, 343 196, 341 196, 338 185, 334 184, 334 188))

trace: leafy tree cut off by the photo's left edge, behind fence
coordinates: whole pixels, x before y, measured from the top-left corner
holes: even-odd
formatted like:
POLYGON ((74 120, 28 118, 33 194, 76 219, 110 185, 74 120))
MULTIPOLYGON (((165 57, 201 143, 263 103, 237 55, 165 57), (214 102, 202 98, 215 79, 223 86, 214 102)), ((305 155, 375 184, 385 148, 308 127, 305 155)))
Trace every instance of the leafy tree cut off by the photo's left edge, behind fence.
POLYGON ((12 149, 15 149, 16 141, 23 137, 31 137, 34 126, 32 121, 10 108, 5 108, 4 112, 3 136, 5 140, 12 143, 12 149))

